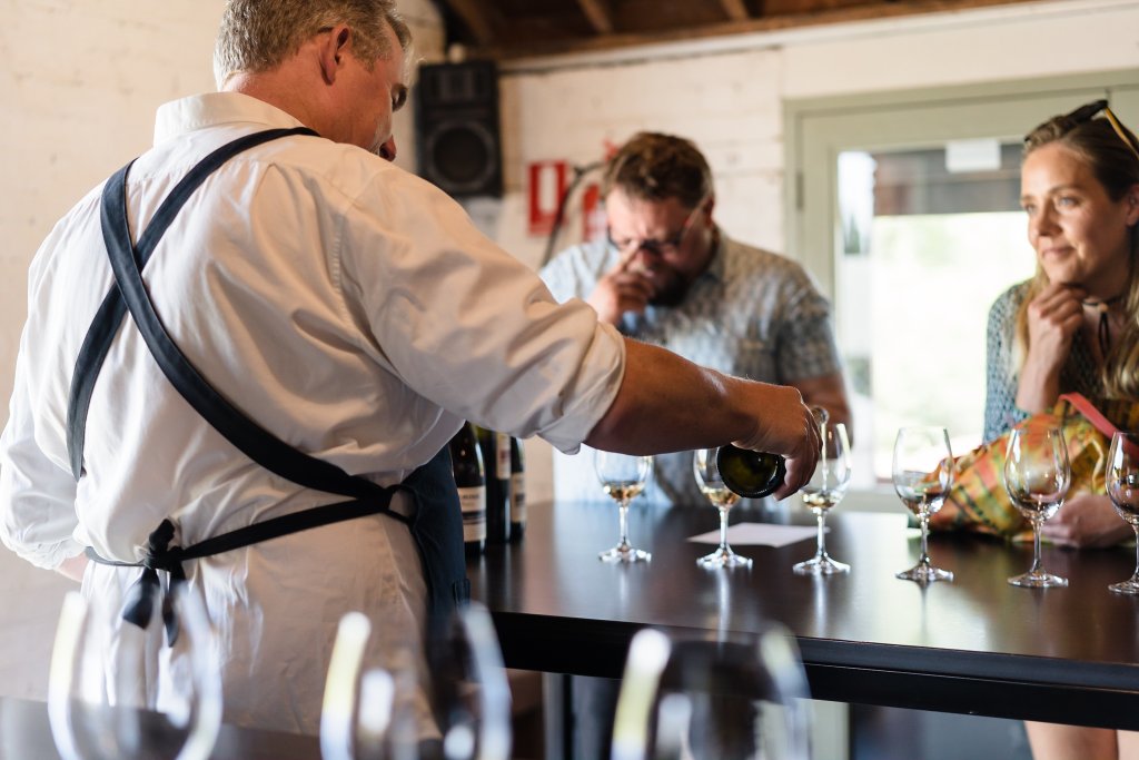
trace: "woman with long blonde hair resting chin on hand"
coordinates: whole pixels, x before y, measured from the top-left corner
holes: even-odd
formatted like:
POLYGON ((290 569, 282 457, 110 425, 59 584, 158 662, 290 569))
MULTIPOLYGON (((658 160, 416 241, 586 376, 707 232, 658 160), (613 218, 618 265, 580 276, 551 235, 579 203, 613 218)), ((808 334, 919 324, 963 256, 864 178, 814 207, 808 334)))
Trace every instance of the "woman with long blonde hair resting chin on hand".
MULTIPOLYGON (((1139 141, 1106 100, 1025 138, 1021 204, 1036 273, 989 314, 985 439, 1077 391, 1139 401, 1139 141)), ((1042 534, 1068 546, 1131 536, 1106 496, 1074 496, 1042 534)), ((1139 734, 1029 724, 1036 760, 1139 758, 1139 734)))

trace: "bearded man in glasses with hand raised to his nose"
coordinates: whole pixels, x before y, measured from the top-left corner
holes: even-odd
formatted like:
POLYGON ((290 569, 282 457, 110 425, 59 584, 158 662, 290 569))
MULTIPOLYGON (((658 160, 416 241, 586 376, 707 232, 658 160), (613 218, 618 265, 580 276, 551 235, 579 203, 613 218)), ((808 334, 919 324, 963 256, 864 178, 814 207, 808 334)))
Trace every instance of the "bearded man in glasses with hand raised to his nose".
MULTIPOLYGON (((728 238, 712 219, 712 172, 683 138, 641 132, 607 162, 607 239, 542 269, 558 301, 579 297, 601 320, 721 371, 794 385, 833 422, 850 408, 830 308, 797 263, 728 238)), ((558 498, 598 498, 592 456, 555 455, 558 498)), ((657 456, 653 501, 704 505, 691 455, 657 456)))

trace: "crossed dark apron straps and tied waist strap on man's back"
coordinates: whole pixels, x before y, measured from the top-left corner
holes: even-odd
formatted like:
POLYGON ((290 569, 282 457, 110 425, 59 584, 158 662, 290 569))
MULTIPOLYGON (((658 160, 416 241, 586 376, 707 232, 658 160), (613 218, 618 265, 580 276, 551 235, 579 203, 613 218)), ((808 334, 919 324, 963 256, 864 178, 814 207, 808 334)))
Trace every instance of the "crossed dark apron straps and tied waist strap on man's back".
MULTIPOLYGON (((142 577, 128 593, 123 612, 126 620, 144 628, 154 612, 155 595, 161 588, 157 570, 170 572, 172 582, 180 582, 186 578, 181 566, 186 559, 206 557, 270 538, 369 514, 386 513, 401 522, 410 522, 408 517, 388 508, 392 495, 401 489, 401 485, 384 488, 294 449, 249 419, 218 393, 166 333, 142 280, 142 267, 154 253, 163 232, 205 178, 229 157, 287 134, 316 134, 316 132, 308 129, 259 132, 239 138, 210 154, 162 203, 155 219, 140 236, 138 246, 131 242, 126 216, 126 174, 131 164, 126 164, 107 180, 103 191, 101 223, 116 289, 104 300, 76 363, 76 376, 73 378, 68 400, 68 448, 73 471, 79 477, 82 473, 83 427, 91 390, 117 329, 116 322, 122 319, 123 312, 129 310, 166 378, 228 441, 254 461, 288 481, 312 490, 345 496, 350 500, 254 523, 189 547, 170 546, 174 537, 174 525, 164 520, 150 534, 141 563, 108 561, 88 549, 88 556, 96 562, 145 569, 142 577)), ((169 597, 163 600, 163 616, 166 621, 167 636, 173 641, 178 634, 169 597)))

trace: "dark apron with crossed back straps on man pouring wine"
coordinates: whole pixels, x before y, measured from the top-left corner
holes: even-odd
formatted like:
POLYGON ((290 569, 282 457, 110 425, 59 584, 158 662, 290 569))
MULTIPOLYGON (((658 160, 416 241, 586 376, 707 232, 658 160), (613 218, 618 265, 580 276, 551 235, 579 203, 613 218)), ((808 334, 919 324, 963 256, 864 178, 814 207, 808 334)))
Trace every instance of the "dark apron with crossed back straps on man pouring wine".
POLYGON ((141 562, 114 562, 98 556, 91 548, 88 548, 87 555, 101 564, 142 567, 141 577, 128 591, 123 616, 145 628, 161 599, 167 638, 173 643, 178 636, 178 623, 170 598, 162 594, 157 571, 166 571, 171 583, 182 582, 186 580, 182 569, 186 561, 310 528, 383 514, 404 523, 415 539, 427 585, 427 632, 434 641, 445 632, 456 607, 470 595, 462 550, 462 512, 448 448, 444 446, 431 461, 412 472, 402 483, 386 488, 294 449, 230 404, 190 365, 163 327, 142 283, 142 268, 194 190, 238 153, 290 134, 317 133, 305 128, 268 130, 238 138, 211 153, 163 201, 137 245, 131 240, 126 220, 126 174, 131 164, 107 180, 101 204, 103 236, 116 287, 100 304, 75 363, 67 404, 67 449, 77 481, 83 475, 83 443, 91 392, 115 332, 129 310, 163 374, 227 440, 254 461, 288 481, 344 496, 347 500, 253 523, 188 547, 170 546, 174 525, 164 520, 150 534, 141 562), (391 508, 396 491, 409 495, 409 515, 391 508))

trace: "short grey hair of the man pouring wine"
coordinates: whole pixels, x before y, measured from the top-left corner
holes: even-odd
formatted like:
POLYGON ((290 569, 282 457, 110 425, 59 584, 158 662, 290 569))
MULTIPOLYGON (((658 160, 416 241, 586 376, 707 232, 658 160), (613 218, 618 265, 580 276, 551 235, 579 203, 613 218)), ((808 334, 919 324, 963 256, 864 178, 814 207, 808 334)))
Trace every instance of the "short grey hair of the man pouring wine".
POLYGON ((214 79, 221 89, 238 73, 276 68, 321 30, 346 24, 352 52, 369 70, 392 55, 387 27, 400 47, 411 47, 411 31, 395 0, 229 0, 214 46, 214 79))

